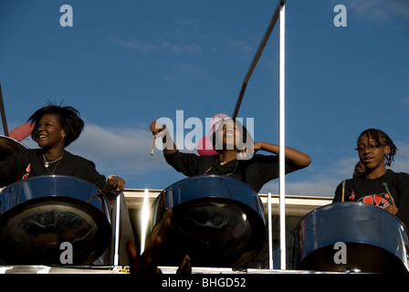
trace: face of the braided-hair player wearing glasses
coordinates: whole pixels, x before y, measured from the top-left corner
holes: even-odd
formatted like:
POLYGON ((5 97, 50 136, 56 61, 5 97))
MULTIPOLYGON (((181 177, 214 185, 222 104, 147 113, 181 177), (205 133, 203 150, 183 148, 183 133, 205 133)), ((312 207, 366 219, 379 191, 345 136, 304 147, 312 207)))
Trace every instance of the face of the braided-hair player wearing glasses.
POLYGON ((371 135, 362 135, 358 139, 357 151, 367 172, 383 172, 386 170, 385 155, 389 154, 391 149, 389 145, 384 143, 384 140, 381 142, 382 144, 377 144, 371 135))

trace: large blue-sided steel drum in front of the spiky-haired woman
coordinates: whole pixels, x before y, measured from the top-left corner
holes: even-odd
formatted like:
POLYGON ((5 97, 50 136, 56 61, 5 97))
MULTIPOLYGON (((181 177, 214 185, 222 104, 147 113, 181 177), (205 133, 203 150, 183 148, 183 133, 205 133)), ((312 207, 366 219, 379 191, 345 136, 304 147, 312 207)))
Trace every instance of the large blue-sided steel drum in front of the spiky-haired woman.
POLYGON ((110 204, 87 181, 35 176, 3 189, 0 203, 3 265, 89 265, 110 246, 110 204), (68 247, 62 243, 72 247, 64 263, 60 255, 68 247))

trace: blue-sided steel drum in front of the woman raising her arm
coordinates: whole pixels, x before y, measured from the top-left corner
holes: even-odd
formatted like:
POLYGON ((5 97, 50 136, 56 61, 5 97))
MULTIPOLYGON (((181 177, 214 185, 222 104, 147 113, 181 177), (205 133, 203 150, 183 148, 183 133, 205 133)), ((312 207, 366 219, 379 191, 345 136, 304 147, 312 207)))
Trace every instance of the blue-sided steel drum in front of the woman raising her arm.
POLYGON ((246 183, 220 175, 194 176, 166 188, 152 204, 152 224, 173 208, 161 265, 245 266, 266 238, 263 205, 246 183))

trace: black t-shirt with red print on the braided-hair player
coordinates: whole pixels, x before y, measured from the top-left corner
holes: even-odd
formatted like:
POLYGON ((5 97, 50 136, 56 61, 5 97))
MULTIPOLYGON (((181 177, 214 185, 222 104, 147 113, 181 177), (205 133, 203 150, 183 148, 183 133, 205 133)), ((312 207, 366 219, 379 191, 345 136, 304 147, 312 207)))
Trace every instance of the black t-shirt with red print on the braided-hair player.
MULTIPOLYGON (((344 202, 363 202, 386 208, 392 202, 383 183, 387 183, 393 201, 398 208, 396 217, 409 228, 408 173, 387 170, 383 176, 376 179, 357 177, 346 180, 344 202)), ((338 185, 332 202, 341 202, 341 195, 342 183, 338 185)))

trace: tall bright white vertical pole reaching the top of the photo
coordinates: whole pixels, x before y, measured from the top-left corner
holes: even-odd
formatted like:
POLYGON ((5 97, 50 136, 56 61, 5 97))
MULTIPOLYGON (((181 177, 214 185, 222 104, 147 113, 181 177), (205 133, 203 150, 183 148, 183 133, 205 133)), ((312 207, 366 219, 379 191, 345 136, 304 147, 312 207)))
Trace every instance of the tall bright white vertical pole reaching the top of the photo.
POLYGON ((280 269, 286 269, 286 188, 285 188, 285 1, 280 2, 279 10, 279 248, 280 269))

